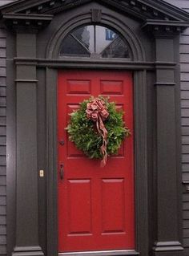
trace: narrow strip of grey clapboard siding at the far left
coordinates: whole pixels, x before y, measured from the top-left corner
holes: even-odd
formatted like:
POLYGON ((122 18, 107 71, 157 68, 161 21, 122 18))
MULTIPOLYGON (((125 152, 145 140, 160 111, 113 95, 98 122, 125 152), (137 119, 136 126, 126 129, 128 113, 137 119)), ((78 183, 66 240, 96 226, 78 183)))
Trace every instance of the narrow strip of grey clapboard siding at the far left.
POLYGON ((0 26, 0 254, 6 255, 6 33, 0 26))

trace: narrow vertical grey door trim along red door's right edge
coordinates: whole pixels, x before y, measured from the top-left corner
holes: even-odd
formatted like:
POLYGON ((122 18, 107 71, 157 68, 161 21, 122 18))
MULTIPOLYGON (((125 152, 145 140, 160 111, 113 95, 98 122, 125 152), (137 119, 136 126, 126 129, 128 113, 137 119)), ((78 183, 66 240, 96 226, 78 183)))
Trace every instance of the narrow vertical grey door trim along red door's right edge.
POLYGON ((144 256, 148 252, 148 175, 147 175, 147 73, 134 72, 135 112, 135 243, 144 256), (143 203, 141 203, 143 202, 143 203))

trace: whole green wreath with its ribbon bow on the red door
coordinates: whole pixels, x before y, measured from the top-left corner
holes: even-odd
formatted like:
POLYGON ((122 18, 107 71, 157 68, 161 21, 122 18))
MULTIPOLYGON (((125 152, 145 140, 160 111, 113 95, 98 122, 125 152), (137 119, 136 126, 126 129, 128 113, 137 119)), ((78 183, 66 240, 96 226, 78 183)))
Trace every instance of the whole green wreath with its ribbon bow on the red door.
MULTIPOLYGON (((123 121, 123 111, 117 111, 115 103, 109 102, 109 98, 104 98, 101 95, 97 98, 91 96, 90 99, 82 101, 80 108, 70 113, 70 123, 66 130, 69 140, 92 159, 104 159, 107 156, 115 155, 124 138, 131 135, 123 121), (97 108, 102 110, 101 117, 97 108), (98 120, 100 124, 103 121, 103 128, 99 124, 95 126, 94 121, 98 123, 98 120), (107 132, 104 132, 105 130, 107 132), (106 152, 102 150, 104 143, 106 152)), ((106 165, 106 161, 104 159, 103 166, 106 165)))

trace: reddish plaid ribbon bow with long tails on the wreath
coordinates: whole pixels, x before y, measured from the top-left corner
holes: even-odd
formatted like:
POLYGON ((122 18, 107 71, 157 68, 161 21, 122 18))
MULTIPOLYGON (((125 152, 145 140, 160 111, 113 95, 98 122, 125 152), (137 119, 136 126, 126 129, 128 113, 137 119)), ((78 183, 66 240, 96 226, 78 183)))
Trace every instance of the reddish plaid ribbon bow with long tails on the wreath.
POLYGON ((107 120, 109 112, 105 102, 100 98, 94 98, 86 106, 86 117, 89 120, 94 121, 97 131, 103 138, 103 144, 100 147, 100 151, 103 155, 101 166, 104 167, 107 163, 107 129, 103 124, 103 121, 107 120))

